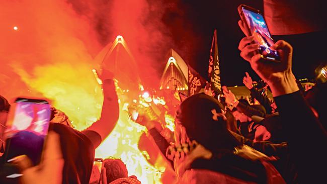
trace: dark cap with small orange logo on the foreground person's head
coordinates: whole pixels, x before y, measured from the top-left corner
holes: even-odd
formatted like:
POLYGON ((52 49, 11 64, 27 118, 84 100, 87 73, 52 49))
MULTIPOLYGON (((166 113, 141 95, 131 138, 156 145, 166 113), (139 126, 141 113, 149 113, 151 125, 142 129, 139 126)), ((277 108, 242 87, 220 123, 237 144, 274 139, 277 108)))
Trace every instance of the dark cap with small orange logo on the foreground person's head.
POLYGON ((185 127, 190 140, 196 140, 212 152, 233 149, 240 143, 227 128, 227 112, 216 99, 203 93, 187 98, 176 118, 185 127))

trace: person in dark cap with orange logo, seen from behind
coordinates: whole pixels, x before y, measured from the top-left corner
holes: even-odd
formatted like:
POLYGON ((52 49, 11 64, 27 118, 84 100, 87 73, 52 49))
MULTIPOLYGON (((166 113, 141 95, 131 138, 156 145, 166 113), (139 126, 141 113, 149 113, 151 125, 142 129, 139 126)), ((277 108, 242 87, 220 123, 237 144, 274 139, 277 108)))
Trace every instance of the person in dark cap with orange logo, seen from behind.
POLYGON ((241 144, 227 129, 216 99, 196 94, 177 111, 175 144, 167 150, 181 183, 285 183, 270 158, 241 144))

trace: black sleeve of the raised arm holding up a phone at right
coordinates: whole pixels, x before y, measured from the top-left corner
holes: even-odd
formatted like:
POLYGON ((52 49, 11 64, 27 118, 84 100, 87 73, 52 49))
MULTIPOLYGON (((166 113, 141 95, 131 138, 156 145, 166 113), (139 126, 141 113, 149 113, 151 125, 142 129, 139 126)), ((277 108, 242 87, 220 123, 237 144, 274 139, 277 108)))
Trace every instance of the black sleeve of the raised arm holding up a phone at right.
POLYGON ((298 169, 300 183, 326 180, 327 133, 300 91, 275 97, 290 157, 298 169))

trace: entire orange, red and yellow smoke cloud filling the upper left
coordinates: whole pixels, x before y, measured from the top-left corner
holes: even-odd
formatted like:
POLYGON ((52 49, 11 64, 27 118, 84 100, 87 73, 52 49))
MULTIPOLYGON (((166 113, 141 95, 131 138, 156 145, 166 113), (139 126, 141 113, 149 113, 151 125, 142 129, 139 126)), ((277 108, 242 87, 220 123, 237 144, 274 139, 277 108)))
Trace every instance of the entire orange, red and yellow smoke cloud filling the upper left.
POLYGON ((48 98, 78 122, 76 128, 85 128, 99 117, 102 103, 91 71, 100 63, 93 59, 117 35, 126 40, 143 85, 158 86, 157 68, 172 45, 161 21, 169 7, 145 0, 3 1, 0 94, 48 98))

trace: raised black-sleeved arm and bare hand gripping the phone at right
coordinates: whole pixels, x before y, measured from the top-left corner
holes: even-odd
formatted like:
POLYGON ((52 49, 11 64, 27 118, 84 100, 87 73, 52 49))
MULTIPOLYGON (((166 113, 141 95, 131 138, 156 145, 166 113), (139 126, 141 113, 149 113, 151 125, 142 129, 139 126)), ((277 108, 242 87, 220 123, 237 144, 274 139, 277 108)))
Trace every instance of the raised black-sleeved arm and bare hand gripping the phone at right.
POLYGON ((325 179, 321 168, 327 162, 327 134, 299 92, 292 73, 293 49, 287 42, 277 41, 271 49, 278 51, 281 62, 272 63, 262 60, 260 54, 250 54, 258 49, 258 44, 251 44, 250 40, 241 40, 241 56, 250 62, 254 71, 272 90, 290 155, 298 168, 299 181, 319 183, 325 179))

